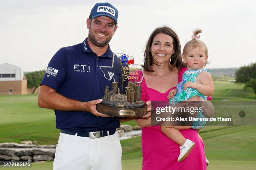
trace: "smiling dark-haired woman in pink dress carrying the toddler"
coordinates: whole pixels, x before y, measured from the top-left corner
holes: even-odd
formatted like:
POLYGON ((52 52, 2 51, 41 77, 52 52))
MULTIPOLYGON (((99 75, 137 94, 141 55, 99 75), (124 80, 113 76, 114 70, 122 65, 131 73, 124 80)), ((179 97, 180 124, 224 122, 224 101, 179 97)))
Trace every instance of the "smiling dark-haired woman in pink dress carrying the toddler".
MULTIPOLYGON (((144 78, 141 82, 143 101, 168 100, 169 91, 182 80, 186 70, 182 67, 180 54, 179 38, 171 28, 156 28, 152 32, 144 52, 144 78)), ((207 105, 212 107, 212 104, 208 103, 207 105)), ((160 126, 151 126, 151 119, 136 121, 142 128, 143 170, 206 170, 204 144, 196 130, 180 130, 185 138, 195 142, 195 147, 189 156, 179 163, 179 145, 164 135, 160 126)))

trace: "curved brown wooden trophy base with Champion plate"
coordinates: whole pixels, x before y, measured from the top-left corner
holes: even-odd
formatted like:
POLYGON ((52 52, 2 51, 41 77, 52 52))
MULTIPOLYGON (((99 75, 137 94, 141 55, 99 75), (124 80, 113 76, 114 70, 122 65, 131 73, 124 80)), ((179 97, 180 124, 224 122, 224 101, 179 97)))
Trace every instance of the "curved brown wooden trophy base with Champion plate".
POLYGON ((147 105, 144 103, 142 107, 137 108, 127 108, 127 107, 113 107, 103 104, 97 104, 96 110, 100 113, 109 116, 117 116, 117 117, 143 117, 147 114, 146 111, 147 105))

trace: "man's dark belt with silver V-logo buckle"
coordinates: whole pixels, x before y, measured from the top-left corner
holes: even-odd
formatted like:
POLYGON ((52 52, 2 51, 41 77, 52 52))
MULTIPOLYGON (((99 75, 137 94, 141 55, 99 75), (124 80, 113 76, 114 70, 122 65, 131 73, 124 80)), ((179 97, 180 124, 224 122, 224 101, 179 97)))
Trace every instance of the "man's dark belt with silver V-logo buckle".
POLYGON ((115 133, 115 130, 110 130, 110 131, 97 131, 97 132, 83 132, 83 133, 74 133, 74 132, 69 132, 67 130, 61 130, 61 133, 66 133, 69 135, 76 135, 77 136, 82 136, 82 137, 89 137, 89 138, 101 138, 104 136, 108 135, 113 135, 115 133))

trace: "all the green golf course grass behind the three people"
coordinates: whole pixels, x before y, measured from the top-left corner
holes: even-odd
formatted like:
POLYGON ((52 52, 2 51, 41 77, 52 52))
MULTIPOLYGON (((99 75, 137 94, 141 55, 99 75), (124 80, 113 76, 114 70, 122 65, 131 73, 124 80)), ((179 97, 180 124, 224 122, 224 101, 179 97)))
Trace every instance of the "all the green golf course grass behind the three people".
MULTIPOLYGON (((243 86, 231 82, 214 82, 214 86, 212 102, 218 114, 233 114, 244 109, 246 117, 253 118, 255 106, 243 103, 255 101, 252 90, 244 91, 243 86), (233 104, 223 105, 222 100, 233 101, 233 104)), ((135 120, 122 124, 137 125, 135 120)), ((54 111, 39 108, 37 95, 0 96, 0 132, 0 143, 34 140, 38 144, 56 144, 59 137, 54 111)), ((208 170, 255 169, 256 126, 207 126, 200 131, 200 135, 210 161, 208 170)), ((123 170, 141 169, 141 137, 122 140, 121 145, 123 170)), ((33 163, 32 168, 23 168, 26 169, 52 169, 52 162, 33 163)))

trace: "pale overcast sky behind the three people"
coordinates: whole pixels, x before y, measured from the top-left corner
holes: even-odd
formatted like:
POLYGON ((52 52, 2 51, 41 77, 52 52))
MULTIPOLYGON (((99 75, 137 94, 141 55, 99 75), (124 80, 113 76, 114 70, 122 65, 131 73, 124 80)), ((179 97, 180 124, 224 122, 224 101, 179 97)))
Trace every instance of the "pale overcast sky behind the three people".
POLYGON ((24 71, 46 69, 61 47, 82 42, 86 19, 97 2, 110 2, 119 12, 113 52, 127 53, 141 64, 151 32, 173 28, 182 48, 195 28, 209 51, 207 68, 240 67, 256 61, 255 0, 1 0, 0 64, 24 71))

